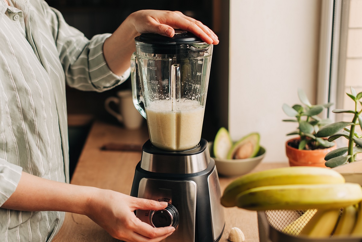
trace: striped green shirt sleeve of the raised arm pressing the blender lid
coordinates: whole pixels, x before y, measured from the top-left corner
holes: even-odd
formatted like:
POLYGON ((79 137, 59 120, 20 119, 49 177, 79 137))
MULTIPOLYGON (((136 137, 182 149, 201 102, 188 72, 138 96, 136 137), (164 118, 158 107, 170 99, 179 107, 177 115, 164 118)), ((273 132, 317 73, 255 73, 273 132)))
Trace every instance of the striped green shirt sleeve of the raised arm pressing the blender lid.
POLYGON ((58 10, 44 4, 68 85, 83 91, 102 92, 129 77, 130 68, 118 76, 105 61, 103 44, 111 34, 99 34, 89 40, 68 25, 58 10))

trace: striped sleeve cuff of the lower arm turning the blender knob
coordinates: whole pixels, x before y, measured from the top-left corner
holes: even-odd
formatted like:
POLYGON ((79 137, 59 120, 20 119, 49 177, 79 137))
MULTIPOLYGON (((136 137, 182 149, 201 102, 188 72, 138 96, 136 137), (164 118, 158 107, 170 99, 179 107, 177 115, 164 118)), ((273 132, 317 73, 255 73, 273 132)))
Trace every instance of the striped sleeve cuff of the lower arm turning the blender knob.
POLYGON ((0 206, 13 194, 20 181, 22 168, 0 159, 0 206))

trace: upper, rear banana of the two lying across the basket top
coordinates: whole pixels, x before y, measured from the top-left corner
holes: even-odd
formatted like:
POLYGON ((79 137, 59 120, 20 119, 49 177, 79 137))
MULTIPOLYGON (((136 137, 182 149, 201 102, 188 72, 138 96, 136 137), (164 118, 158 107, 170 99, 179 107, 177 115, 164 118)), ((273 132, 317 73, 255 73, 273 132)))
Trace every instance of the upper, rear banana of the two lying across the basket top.
POLYGON ((254 172, 233 180, 225 188, 221 204, 225 207, 235 206, 235 198, 239 193, 266 185, 337 183, 345 183, 345 179, 331 169, 304 166, 276 168, 254 172))

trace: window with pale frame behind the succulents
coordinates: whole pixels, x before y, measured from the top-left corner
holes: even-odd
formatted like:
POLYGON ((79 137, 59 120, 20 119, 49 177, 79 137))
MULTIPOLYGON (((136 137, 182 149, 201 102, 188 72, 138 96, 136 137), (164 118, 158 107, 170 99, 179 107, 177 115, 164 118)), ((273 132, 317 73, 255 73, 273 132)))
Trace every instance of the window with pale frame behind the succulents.
MULTIPOLYGON (((332 110, 354 109, 346 95, 353 87, 362 92, 362 0, 324 0, 321 14, 317 100, 334 103, 325 116, 333 121, 352 121, 353 114, 332 110)), ((361 106, 359 105, 359 109, 361 106)), ((361 134, 361 128, 356 126, 361 134)), ((337 139, 345 146, 346 139, 337 139)))

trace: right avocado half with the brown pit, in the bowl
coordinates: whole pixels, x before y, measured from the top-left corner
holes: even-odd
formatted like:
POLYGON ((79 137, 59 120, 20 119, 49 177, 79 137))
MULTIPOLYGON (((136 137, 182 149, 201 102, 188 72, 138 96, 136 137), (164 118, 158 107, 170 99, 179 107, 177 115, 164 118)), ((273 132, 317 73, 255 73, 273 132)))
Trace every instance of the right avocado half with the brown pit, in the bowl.
POLYGON ((258 133, 251 133, 231 147, 227 154, 227 159, 247 159, 255 157, 260 149, 259 145, 260 135, 258 133))

